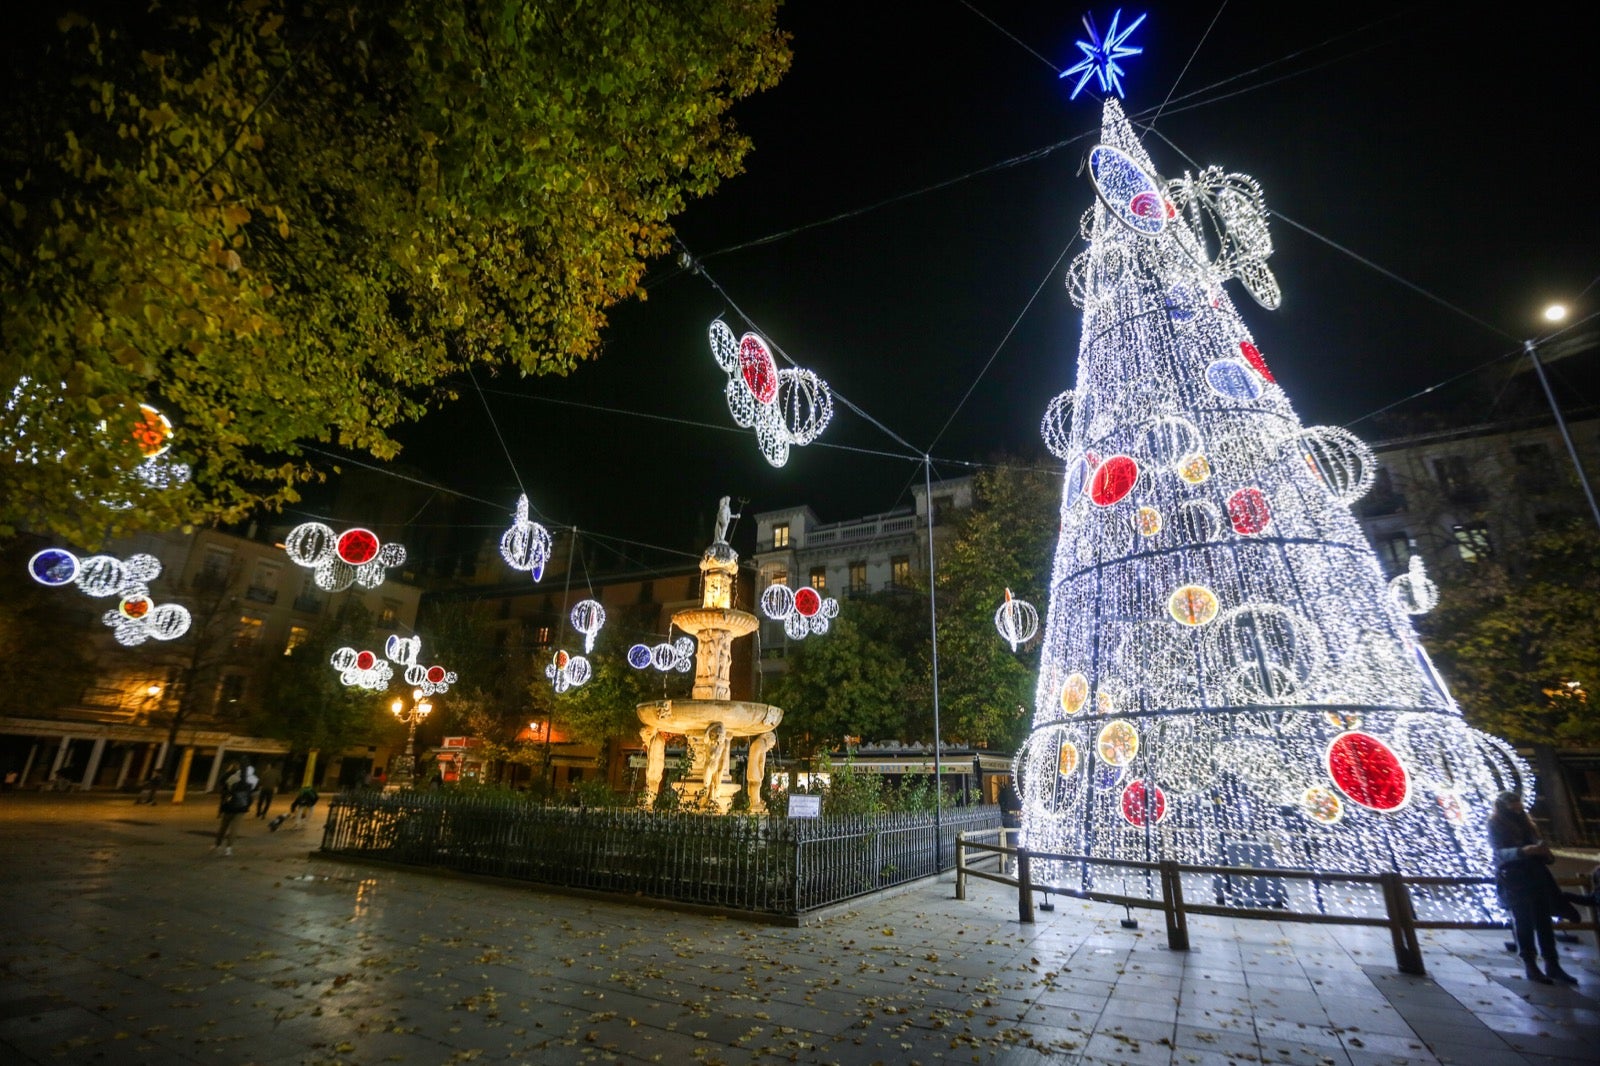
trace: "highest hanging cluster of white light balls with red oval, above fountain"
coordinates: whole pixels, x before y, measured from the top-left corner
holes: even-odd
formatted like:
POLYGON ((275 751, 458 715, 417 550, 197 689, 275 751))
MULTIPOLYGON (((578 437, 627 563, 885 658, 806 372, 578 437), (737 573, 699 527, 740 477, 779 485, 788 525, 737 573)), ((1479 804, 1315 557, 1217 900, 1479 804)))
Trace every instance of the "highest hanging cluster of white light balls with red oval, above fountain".
POLYGON ((734 339, 722 319, 710 323, 710 352, 728 375, 723 394, 741 429, 755 429, 755 442, 773 466, 789 461, 790 447, 816 440, 834 418, 834 394, 813 371, 778 370, 773 354, 755 333, 734 339))

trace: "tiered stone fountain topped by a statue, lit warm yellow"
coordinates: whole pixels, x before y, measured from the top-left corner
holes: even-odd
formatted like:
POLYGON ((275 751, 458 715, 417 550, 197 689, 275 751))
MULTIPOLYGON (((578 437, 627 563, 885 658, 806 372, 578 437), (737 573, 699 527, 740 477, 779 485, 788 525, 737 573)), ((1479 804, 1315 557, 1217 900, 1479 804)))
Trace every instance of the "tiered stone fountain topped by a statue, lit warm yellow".
POLYGON ((746 699, 730 699, 728 669, 733 664, 733 642, 755 632, 755 615, 733 607, 739 555, 728 546, 728 498, 717 507, 717 536, 701 557, 701 605, 677 611, 672 624, 691 634, 699 643, 694 663, 694 688, 688 699, 653 699, 638 704, 640 739, 645 741, 645 802, 654 804, 666 767, 667 736, 678 733, 690 749, 690 771, 675 787, 685 805, 726 812, 739 792, 739 783, 728 775, 733 741, 749 739, 744 778, 750 794, 750 810, 762 812, 762 776, 766 752, 778 743, 773 730, 784 720, 782 707, 746 699))

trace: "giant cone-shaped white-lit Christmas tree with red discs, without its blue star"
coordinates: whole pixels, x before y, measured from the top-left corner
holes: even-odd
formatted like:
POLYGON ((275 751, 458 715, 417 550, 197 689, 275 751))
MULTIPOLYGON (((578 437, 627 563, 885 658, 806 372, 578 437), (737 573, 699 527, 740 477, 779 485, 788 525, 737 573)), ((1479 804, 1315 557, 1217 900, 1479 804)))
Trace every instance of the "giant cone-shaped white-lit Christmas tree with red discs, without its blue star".
MULTIPOLYGON (((1432 605, 1432 583, 1416 567, 1386 579, 1349 511, 1371 451, 1301 424, 1222 288, 1237 279, 1278 303, 1261 189, 1218 168, 1162 181, 1115 101, 1101 138, 1090 246, 1069 277, 1083 307, 1077 381, 1043 427, 1067 475, 1018 755, 1027 847, 1488 874, 1490 802, 1525 786, 1526 767, 1462 722, 1418 642, 1410 615, 1432 605)), ((1142 892, 1117 868, 1046 876, 1142 892)), ((1376 887, 1250 892, 1381 909, 1376 887)), ((1493 908, 1488 888, 1416 901, 1424 916, 1493 908)))

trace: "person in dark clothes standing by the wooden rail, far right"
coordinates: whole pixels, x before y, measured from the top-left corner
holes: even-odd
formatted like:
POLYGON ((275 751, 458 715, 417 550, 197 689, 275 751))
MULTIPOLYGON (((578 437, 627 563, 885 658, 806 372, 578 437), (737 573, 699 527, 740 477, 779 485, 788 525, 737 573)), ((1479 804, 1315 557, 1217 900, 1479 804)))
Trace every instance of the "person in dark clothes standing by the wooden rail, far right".
POLYGON ((1550 984, 1552 980, 1578 984, 1578 978, 1563 970, 1555 957, 1552 919, 1562 900, 1562 890, 1550 874, 1555 858, 1550 845, 1539 839, 1518 792, 1494 797, 1488 832, 1490 847, 1494 848, 1494 892, 1510 912, 1517 954, 1522 956, 1528 980, 1539 984, 1550 984), (1544 973, 1538 967, 1539 956, 1544 956, 1544 973))

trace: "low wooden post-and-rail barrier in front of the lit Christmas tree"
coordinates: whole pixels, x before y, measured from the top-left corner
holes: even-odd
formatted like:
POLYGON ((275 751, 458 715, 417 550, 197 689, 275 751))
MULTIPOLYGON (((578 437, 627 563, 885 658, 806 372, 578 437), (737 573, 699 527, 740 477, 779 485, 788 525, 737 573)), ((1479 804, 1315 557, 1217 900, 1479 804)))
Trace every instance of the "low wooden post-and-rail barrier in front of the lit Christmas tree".
MULTIPOLYGON (((1418 930, 1424 928, 1506 928, 1504 922, 1442 922, 1418 919, 1411 904, 1411 888, 1448 888, 1461 885, 1488 885, 1488 877, 1453 879, 1453 877, 1408 877, 1398 872, 1384 874, 1344 874, 1310 869, 1261 869, 1254 866, 1190 866, 1187 863, 1139 863, 1133 860, 1090 858, 1086 855, 1053 855, 1030 852, 1008 844, 1018 837, 1018 829, 989 829, 978 832, 962 832, 955 840, 955 898, 966 898, 966 879, 998 882, 1016 888, 1018 920, 1030 924, 1034 920, 1034 893, 1043 892, 1077 900, 1093 900, 1096 903, 1112 903, 1122 908, 1142 908, 1162 911, 1166 919, 1166 946, 1171 951, 1189 951, 1189 916, 1211 914, 1234 919, 1264 919, 1269 922, 1304 922, 1310 925, 1370 925, 1387 928, 1394 943, 1395 967, 1402 973, 1426 975, 1422 965, 1422 944, 1418 930), (995 837, 997 844, 982 844, 978 837, 995 837), (976 852, 978 858, 970 853, 976 852), (978 861, 998 860, 995 869, 979 869, 978 861), (1122 869, 1154 872, 1160 882, 1160 896, 1130 896, 1112 892, 1086 892, 1061 885, 1037 884, 1032 876, 1035 861, 1074 863, 1088 866, 1112 866, 1122 869), (1006 871, 1013 872, 1008 874, 1006 871), (1246 879, 1291 879, 1317 880, 1326 884, 1376 885, 1381 892, 1381 916, 1362 914, 1307 914, 1304 911, 1280 911, 1266 908, 1213 906, 1208 903, 1187 903, 1184 900, 1184 874, 1205 874, 1210 877, 1246 877, 1246 879)), ((1046 908, 1048 909, 1048 908, 1046 908)), ((1600 930, 1600 908, 1590 909, 1589 922, 1568 922, 1563 930, 1600 930)))

